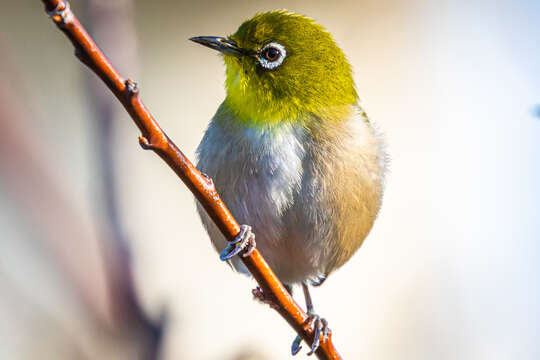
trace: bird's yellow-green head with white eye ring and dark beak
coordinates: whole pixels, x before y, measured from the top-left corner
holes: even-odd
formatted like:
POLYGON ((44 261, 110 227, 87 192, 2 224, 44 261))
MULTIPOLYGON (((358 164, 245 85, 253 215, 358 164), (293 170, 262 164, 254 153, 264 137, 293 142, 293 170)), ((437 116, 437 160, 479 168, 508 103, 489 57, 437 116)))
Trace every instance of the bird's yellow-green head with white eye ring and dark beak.
POLYGON ((191 40, 223 54, 225 104, 243 122, 302 121, 304 114, 324 116, 357 101, 345 55, 329 32, 305 16, 261 13, 226 38, 191 40))

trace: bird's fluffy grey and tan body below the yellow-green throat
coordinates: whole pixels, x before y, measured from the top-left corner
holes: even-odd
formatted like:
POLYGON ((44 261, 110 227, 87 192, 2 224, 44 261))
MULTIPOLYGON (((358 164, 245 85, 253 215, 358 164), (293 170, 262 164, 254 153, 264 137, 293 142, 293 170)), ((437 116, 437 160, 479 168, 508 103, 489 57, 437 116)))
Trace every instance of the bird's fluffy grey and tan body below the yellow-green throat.
MULTIPOLYGON (((348 261, 380 207, 385 156, 369 122, 359 116, 321 126, 329 129, 315 137, 289 123, 265 130, 212 121, 198 148, 198 168, 236 220, 252 226, 257 248, 289 284, 348 261)), ((200 206, 199 213, 223 250, 225 238, 200 206)), ((238 258, 232 264, 245 270, 238 258)))

